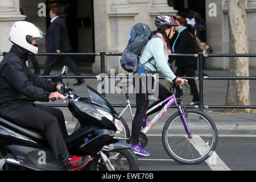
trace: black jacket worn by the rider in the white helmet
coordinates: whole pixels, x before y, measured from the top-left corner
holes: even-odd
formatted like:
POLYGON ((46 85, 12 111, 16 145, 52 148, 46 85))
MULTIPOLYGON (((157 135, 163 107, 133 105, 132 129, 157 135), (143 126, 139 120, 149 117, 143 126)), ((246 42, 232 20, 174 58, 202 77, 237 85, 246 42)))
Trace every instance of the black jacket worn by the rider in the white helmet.
POLYGON ((0 113, 7 106, 49 101, 49 93, 57 91, 55 82, 33 74, 24 60, 26 55, 13 46, 0 63, 0 113))

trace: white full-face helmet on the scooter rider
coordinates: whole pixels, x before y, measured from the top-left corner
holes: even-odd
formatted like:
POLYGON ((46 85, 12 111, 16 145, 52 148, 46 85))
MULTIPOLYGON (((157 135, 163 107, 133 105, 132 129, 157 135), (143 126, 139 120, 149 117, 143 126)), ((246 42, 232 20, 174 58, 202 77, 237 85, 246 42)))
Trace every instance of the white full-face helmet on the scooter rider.
POLYGON ((34 54, 38 53, 38 46, 32 45, 32 39, 39 40, 44 37, 44 32, 35 24, 27 21, 18 21, 13 24, 9 40, 34 54))

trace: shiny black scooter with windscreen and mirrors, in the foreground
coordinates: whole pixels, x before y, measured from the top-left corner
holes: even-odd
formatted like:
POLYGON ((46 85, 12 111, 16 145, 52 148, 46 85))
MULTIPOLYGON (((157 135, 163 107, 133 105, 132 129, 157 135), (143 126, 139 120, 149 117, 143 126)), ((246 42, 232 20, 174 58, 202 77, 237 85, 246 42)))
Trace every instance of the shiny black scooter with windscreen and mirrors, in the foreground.
MULTIPOLYGON (((64 67, 63 75, 68 80, 67 72, 64 67)), ((138 160, 131 146, 115 137, 123 131, 123 125, 113 106, 90 86, 86 88, 88 98, 77 96, 68 83, 64 85, 60 73, 53 75, 52 81, 63 84, 60 93, 66 97, 64 102, 68 102, 69 110, 80 122, 79 129, 65 138, 69 153, 92 156, 81 170, 138 171, 138 160)), ((63 162, 55 158, 41 131, 0 118, 0 171, 27 169, 67 170, 63 162)))

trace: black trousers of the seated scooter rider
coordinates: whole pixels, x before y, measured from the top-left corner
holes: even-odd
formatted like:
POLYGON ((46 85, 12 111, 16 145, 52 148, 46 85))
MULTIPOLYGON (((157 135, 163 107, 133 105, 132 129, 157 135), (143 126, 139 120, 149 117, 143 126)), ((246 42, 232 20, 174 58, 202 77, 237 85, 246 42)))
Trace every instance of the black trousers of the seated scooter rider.
POLYGON ((7 109, 7 118, 11 118, 16 125, 38 129, 44 133, 56 159, 60 155, 68 154, 64 138, 68 137, 64 115, 61 110, 50 106, 34 103, 7 109))

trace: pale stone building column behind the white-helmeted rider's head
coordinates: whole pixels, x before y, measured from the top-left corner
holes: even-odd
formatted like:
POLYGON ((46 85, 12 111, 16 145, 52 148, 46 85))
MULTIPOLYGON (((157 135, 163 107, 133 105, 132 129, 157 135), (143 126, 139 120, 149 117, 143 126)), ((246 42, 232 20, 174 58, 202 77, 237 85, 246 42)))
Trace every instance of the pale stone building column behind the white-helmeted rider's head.
MULTIPOLYGON (((11 42, 9 41, 9 32, 14 22, 25 19, 26 16, 20 15, 18 11, 14 9, 13 0, 0 1, 0 52, 8 52, 11 48, 11 42)), ((2 61, 0 56, 0 61, 2 61)))

